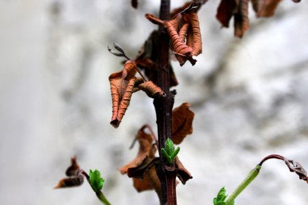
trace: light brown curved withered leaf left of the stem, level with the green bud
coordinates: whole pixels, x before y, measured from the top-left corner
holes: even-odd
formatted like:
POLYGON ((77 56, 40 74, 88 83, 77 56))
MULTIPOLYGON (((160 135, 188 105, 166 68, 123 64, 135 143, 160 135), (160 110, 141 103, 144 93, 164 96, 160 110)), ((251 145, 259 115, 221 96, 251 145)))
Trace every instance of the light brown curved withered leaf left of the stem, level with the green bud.
POLYGON ((139 151, 135 159, 119 169, 121 174, 127 174, 129 168, 136 168, 140 165, 146 165, 154 158, 155 147, 152 146, 153 137, 144 132, 145 126, 142 126, 136 135, 139 143, 139 151), (144 161, 146 159, 146 161, 144 161), (142 164, 143 163, 143 164, 142 164))

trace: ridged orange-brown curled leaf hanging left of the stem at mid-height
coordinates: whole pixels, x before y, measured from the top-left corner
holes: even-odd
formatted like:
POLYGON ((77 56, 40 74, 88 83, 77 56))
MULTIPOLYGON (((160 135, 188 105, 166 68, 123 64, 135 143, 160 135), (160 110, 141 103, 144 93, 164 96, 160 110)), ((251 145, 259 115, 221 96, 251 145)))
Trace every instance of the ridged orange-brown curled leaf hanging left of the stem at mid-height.
POLYGON ((131 95, 143 80, 134 77, 136 64, 128 60, 122 71, 110 75, 110 90, 112 93, 112 120, 110 124, 117 128, 129 106, 131 95))

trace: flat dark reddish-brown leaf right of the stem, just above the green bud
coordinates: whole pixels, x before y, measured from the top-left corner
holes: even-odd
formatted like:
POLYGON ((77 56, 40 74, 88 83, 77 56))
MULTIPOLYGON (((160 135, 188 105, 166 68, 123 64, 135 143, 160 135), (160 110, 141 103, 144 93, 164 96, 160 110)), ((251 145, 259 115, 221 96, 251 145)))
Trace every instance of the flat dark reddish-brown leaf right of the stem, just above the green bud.
POLYGON ((190 110, 188 102, 176 107, 172 111, 172 140, 179 144, 187 135, 192 134, 192 121, 194 112, 190 110))

